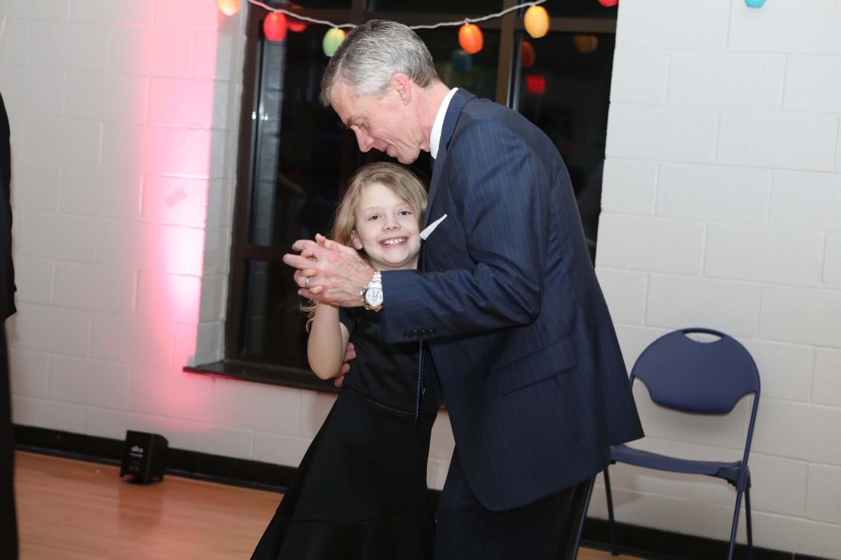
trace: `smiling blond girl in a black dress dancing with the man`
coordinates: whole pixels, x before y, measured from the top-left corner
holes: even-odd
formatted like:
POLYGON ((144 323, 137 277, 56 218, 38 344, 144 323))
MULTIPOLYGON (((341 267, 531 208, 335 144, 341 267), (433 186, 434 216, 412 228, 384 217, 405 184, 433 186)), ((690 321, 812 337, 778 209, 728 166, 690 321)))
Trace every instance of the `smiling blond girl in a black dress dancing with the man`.
MULTIPOLYGON (((425 210, 415 175, 366 165, 351 180, 331 237, 376 270, 415 269, 425 210)), ((439 390, 431 359, 419 343, 384 343, 378 311, 316 306, 310 369, 335 377, 349 341, 357 358, 252 560, 432 557, 426 460, 439 390)))

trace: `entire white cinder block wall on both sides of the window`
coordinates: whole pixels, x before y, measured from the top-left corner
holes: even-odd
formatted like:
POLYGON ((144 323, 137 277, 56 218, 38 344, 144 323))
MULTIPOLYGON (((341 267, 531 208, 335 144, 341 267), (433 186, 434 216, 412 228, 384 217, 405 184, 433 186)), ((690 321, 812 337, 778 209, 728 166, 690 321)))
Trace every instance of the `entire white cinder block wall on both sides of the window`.
MULTIPOLYGON (((6 0, 0 18, 15 421, 297 464, 331 396, 181 371, 222 352, 244 18, 210 0, 6 0)), ((629 365, 687 325, 754 354, 756 542, 826 557, 841 557, 838 29, 825 0, 623 0, 598 254, 629 365)), ((650 447, 732 456, 743 432, 717 432, 747 407, 700 427, 642 413, 650 447)), ((724 484, 622 467, 614 484, 621 521, 727 537, 724 484)))

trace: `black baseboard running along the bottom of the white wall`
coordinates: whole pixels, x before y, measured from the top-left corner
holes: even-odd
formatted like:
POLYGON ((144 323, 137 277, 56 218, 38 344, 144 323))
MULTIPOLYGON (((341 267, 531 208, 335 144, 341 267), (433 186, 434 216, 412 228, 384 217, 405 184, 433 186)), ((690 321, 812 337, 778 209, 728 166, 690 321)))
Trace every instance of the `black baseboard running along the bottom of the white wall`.
MULTIPOLYGON (((22 451, 75 458, 94 463, 119 465, 123 441, 108 437, 86 436, 39 427, 15 426, 17 447, 22 451)), ((246 488, 283 492, 294 478, 294 467, 283 467, 247 459, 236 459, 170 447, 166 474, 191 479, 234 484, 246 488)), ((438 491, 431 490, 433 505, 438 491)), ((584 522, 583 542, 587 547, 610 549, 607 521, 588 517, 584 522)), ((616 542, 620 552, 651 560, 710 560, 727 557, 727 542, 701 536, 683 535, 649 527, 616 523, 616 542)), ((746 558, 747 547, 737 545, 736 558, 746 558)), ((793 552, 754 547, 754 560, 828 560, 793 552)))

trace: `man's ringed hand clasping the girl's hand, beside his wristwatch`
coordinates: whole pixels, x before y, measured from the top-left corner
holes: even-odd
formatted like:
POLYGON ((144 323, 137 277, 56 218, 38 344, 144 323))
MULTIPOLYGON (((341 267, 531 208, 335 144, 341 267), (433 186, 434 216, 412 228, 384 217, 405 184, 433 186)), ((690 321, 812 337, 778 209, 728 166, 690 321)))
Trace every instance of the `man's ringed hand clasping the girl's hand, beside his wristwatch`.
POLYGON ((374 270, 354 249, 323 235, 316 235, 315 241, 299 239, 292 249, 299 254, 284 254, 283 262, 298 269, 294 279, 300 296, 331 306, 362 305, 359 292, 374 270))

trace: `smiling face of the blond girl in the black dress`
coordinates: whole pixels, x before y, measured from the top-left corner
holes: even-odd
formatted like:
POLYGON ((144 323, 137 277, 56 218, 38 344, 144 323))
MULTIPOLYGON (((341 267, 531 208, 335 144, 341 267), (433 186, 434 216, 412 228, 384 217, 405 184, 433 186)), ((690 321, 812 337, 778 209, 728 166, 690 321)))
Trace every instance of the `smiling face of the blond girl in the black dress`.
POLYGON ((364 249, 377 270, 417 268, 421 251, 419 217, 410 204, 382 183, 362 187, 353 247, 364 249))

